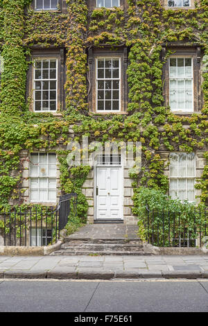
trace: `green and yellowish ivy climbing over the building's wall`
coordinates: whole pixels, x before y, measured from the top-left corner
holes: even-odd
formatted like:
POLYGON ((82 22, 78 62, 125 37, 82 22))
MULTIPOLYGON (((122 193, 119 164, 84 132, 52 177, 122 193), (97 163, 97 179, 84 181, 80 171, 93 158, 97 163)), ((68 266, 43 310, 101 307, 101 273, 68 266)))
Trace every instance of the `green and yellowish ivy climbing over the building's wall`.
MULTIPOLYGON (((208 0, 190 10, 166 10, 159 0, 126 0, 128 9, 89 10, 86 0, 67 0, 67 12, 35 12, 31 0, 0 1, 1 73, 0 204, 24 205, 21 151, 56 151, 63 193, 77 191, 79 216, 87 214, 81 188, 90 168, 67 165, 67 144, 83 135, 90 139, 141 141, 143 168, 131 175, 133 187, 168 189, 161 151, 205 151, 207 146, 208 72, 202 71, 204 103, 201 112, 175 115, 164 105, 162 46, 198 44, 208 65, 208 0), (29 111, 26 80, 33 46, 64 47, 66 51, 66 104, 60 115, 29 111), (128 113, 89 114, 87 52, 92 46, 128 46, 128 113), (115 137, 116 135, 116 137, 115 137)), ((164 61, 163 61, 164 60, 164 61)), ((196 188, 205 202, 208 167, 196 188)))

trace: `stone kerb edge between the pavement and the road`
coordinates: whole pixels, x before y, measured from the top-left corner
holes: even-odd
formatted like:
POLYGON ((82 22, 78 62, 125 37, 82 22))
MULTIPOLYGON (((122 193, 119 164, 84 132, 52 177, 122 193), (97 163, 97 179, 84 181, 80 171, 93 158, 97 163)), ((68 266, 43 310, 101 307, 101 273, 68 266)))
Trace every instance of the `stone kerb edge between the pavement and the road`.
POLYGON ((5 271, 0 279, 116 280, 116 279, 208 279, 208 271, 5 271))

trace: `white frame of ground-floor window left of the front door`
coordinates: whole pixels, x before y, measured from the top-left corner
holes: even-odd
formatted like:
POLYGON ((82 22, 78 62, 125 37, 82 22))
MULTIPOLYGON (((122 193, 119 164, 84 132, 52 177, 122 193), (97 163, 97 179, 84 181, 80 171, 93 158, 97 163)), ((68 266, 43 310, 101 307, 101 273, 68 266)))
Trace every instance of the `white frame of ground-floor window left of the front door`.
MULTIPOLYGON (((44 154, 44 155, 47 155, 47 166, 48 166, 48 171, 49 171, 49 154, 50 153, 31 153, 31 154, 37 154, 38 155, 38 163, 37 163, 37 166, 38 166, 38 173, 37 173, 37 176, 31 176, 31 169, 30 169, 30 173, 29 173, 29 176, 30 176, 30 203, 56 203, 56 189, 57 189, 57 185, 56 185, 56 183, 57 183, 57 178, 56 178, 56 172, 57 172, 57 157, 56 157, 56 155, 55 155, 55 153, 53 153, 54 154, 54 156, 55 156, 55 175, 54 176, 49 176, 49 173, 46 175, 46 176, 42 176, 42 175, 40 175, 40 154, 44 154), (37 188, 34 188, 33 187, 33 189, 34 190, 37 190, 38 191, 38 199, 37 200, 32 200, 31 199, 31 190, 32 190, 32 188, 31 188, 31 180, 33 180, 33 179, 36 179, 36 180, 38 180, 38 187, 37 188), (54 200, 41 200, 40 199, 40 190, 42 189, 41 187, 40 187, 40 179, 47 179, 47 185, 48 185, 48 187, 46 188, 47 189, 47 198, 49 198, 49 190, 55 190, 55 198, 54 198, 54 200), (56 180, 56 182, 55 182, 55 188, 50 188, 49 189, 49 180, 50 179, 55 179, 56 180)), ((52 154, 52 153, 51 153, 52 154)), ((31 164, 33 164, 32 162, 31 162, 31 164)), ((54 164, 51 164, 51 165, 54 165, 54 164)), ((44 188, 45 189, 45 188, 44 188)))

